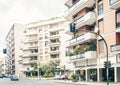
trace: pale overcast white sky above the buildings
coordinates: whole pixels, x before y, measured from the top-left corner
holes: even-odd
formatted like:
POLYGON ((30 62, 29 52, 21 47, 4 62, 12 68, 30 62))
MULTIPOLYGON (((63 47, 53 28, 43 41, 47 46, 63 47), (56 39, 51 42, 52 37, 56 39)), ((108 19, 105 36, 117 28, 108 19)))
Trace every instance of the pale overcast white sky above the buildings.
POLYGON ((62 16, 65 0, 0 0, 0 48, 14 23, 27 24, 62 16))

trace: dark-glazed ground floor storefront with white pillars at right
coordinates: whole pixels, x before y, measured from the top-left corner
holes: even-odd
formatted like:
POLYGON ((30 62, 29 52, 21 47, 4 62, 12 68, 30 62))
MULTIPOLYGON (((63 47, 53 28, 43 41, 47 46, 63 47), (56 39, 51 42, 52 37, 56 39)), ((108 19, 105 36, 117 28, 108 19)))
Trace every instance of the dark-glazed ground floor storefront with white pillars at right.
MULTIPOLYGON (((79 75, 79 81, 107 81, 105 68, 78 69, 75 73, 79 75)), ((120 67, 109 68, 109 82, 120 82, 120 67)))

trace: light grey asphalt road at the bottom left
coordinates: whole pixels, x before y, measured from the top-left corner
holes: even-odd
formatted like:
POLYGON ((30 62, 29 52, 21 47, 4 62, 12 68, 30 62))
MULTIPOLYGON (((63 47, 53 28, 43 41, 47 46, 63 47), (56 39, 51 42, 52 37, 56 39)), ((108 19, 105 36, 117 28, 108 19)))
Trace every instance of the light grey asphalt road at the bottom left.
POLYGON ((54 80, 20 79, 19 81, 11 81, 10 78, 3 79, 0 78, 0 85, 68 85, 68 84, 57 83, 54 80))

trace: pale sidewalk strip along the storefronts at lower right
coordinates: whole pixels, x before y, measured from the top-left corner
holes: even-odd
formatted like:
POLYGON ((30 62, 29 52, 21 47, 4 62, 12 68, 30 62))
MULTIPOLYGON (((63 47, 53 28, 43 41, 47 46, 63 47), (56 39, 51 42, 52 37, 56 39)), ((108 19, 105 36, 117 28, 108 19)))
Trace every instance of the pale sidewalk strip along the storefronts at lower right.
MULTIPOLYGON (((72 82, 72 81, 68 81, 68 80, 55 80, 55 82, 76 84, 76 85, 107 85, 107 82, 85 82, 85 81, 72 82)), ((120 85, 120 82, 119 83, 110 82, 109 85, 120 85)))

